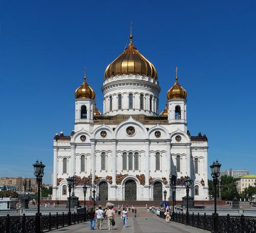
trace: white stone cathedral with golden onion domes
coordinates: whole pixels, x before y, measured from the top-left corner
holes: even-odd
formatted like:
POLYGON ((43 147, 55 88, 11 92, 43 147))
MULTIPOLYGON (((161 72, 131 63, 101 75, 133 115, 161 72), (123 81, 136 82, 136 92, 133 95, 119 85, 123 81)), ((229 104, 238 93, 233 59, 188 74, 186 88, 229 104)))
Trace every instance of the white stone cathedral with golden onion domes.
POLYGON ((75 123, 71 135, 56 134, 53 142, 53 197, 67 200, 67 178, 74 176, 74 193, 83 199, 88 186, 97 200, 163 200, 171 198, 175 177, 176 200, 186 195, 184 177, 193 185, 195 200, 208 200, 205 135, 187 130, 187 92, 176 82, 167 92, 166 108, 159 114, 157 70, 133 44, 105 69, 103 113, 87 83, 75 91, 75 123))

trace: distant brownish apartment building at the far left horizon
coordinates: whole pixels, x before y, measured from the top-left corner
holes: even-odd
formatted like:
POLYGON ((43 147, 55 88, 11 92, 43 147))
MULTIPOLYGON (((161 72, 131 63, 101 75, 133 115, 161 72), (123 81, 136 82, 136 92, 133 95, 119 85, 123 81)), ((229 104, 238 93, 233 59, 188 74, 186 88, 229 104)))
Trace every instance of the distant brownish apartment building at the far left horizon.
MULTIPOLYGON (((23 177, 0 177, 0 186, 16 187, 18 193, 24 193, 24 181, 27 181, 27 188, 29 188, 29 180, 31 183, 31 192, 36 192, 36 178, 23 177)), ((12 189, 13 190, 13 189, 12 189)))

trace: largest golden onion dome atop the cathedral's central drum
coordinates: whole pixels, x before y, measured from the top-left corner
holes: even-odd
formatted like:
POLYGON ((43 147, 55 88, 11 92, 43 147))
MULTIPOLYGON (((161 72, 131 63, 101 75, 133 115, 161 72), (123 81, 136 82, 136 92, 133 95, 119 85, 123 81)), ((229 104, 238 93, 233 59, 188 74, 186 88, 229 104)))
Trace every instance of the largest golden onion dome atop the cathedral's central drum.
POLYGON ((123 53, 106 67, 104 80, 115 75, 140 74, 158 79, 157 70, 152 63, 143 57, 133 44, 133 35, 130 35, 130 44, 123 53))

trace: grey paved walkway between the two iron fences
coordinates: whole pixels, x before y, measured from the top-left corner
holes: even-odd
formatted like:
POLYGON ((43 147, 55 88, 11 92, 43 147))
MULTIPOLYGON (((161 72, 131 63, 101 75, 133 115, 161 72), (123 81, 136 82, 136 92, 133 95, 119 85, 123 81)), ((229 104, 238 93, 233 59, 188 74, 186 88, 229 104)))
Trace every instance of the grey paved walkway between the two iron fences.
POLYGON ((207 233, 210 231, 198 229, 196 227, 186 226, 184 224, 165 222, 164 219, 160 219, 158 216, 147 213, 145 208, 137 208, 138 213, 135 218, 132 212, 128 215, 127 227, 123 227, 123 223, 120 217, 116 215, 113 230, 108 229, 108 222, 103 221, 102 230, 98 230, 95 226, 95 230, 90 230, 90 222, 79 223, 76 225, 53 230, 52 232, 66 232, 66 233, 82 233, 82 232, 116 232, 116 233, 207 233))

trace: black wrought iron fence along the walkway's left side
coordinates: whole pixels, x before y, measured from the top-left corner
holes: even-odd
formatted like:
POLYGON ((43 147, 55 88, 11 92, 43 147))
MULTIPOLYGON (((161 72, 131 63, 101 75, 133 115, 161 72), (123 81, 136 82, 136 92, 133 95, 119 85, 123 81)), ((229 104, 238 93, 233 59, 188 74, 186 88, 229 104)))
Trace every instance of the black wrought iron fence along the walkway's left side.
MULTIPOLYGON (((76 224, 89 220, 89 215, 85 212, 71 213, 71 224, 76 224)), ((68 226, 69 216, 67 213, 56 213, 52 215, 40 214, 40 229, 52 230, 68 226)), ((10 216, 0 217, 0 233, 35 233, 36 216, 10 216)))

